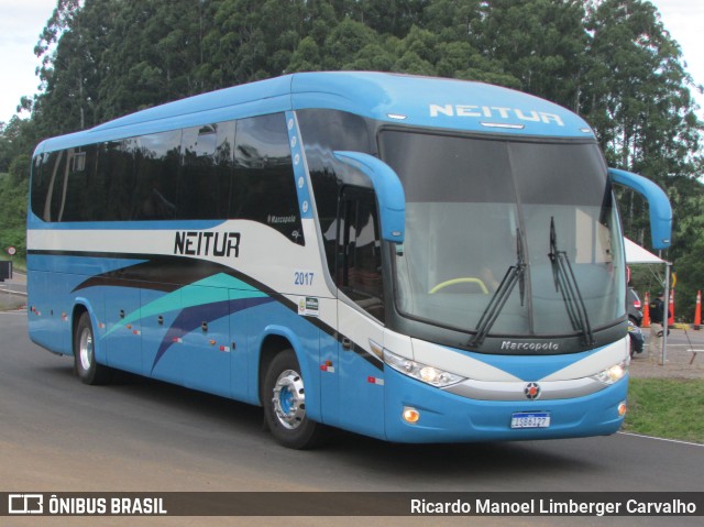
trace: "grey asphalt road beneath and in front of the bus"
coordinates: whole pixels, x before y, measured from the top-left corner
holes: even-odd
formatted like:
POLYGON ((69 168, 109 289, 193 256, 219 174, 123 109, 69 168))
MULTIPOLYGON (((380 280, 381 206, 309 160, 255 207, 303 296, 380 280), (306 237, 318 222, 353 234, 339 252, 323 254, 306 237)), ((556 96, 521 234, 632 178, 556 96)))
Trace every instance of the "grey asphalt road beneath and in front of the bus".
MULTIPOLYGON (((697 491, 704 447, 612 437, 520 443, 398 446, 341 435, 292 451, 262 410, 128 374, 82 385, 70 358, 26 337, 26 315, 0 312, 0 491, 697 491)), ((29 518, 4 525, 68 525, 29 518)), ((58 521, 62 520, 63 521, 58 521)), ((251 525, 254 518, 72 518, 70 525, 251 525)), ((56 520, 56 521, 54 521, 56 520)), ((663 518, 309 518, 287 525, 663 525, 663 518), (600 521, 601 520, 601 521, 600 521)), ((668 525, 702 525, 671 518, 668 525)), ((279 525, 256 518, 257 526, 279 525)))

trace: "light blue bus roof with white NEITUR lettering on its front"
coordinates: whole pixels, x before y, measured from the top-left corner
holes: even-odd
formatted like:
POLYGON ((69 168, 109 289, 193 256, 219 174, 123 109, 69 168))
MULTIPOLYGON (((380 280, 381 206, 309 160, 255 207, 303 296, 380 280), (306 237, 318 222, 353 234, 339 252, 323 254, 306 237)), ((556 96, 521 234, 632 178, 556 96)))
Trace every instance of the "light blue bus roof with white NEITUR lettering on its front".
POLYGON ((571 111, 508 88, 389 73, 321 72, 286 75, 168 102, 46 140, 36 153, 307 108, 342 110, 433 129, 594 136, 588 124, 571 111))

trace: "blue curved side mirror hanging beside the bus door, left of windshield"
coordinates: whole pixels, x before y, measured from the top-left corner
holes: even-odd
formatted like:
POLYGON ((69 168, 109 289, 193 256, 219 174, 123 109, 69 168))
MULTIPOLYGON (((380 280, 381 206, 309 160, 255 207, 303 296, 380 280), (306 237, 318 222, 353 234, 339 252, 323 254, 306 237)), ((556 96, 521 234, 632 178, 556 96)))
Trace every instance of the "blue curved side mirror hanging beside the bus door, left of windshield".
POLYGON ((372 180, 382 228, 382 240, 403 243, 406 227, 406 195, 400 179, 383 161, 361 152, 333 152, 336 158, 362 172, 372 180))

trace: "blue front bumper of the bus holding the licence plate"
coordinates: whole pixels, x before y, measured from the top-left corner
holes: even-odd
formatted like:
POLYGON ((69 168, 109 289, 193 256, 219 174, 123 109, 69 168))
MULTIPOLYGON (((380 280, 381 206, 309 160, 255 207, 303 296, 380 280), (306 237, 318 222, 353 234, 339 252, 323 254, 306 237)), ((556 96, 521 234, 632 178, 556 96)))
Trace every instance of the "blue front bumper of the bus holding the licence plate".
POLYGON ((603 389, 582 397, 479 400, 424 384, 391 367, 385 370, 385 374, 386 439, 396 442, 482 442, 607 436, 618 431, 622 426, 628 392, 626 375, 615 384, 605 385, 603 389), (409 422, 404 418, 405 413, 406 416, 414 415, 417 420, 409 422), (530 419, 530 416, 540 417, 530 419), (516 428, 517 425, 521 427, 516 428))

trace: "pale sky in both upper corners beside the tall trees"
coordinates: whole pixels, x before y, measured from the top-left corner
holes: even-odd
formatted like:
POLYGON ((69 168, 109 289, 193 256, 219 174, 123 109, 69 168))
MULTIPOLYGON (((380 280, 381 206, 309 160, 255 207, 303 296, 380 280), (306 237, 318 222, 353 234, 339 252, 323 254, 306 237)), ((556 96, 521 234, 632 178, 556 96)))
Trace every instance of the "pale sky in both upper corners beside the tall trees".
MULTIPOLYGON (((651 0, 670 35, 680 44, 685 69, 704 85, 704 0, 651 0)), ((56 0, 0 0, 0 121, 15 113, 22 96, 37 91, 34 46, 52 15, 56 0)), ((704 96, 697 96, 704 119, 704 96)), ((26 117, 26 114, 23 114, 26 117)))

